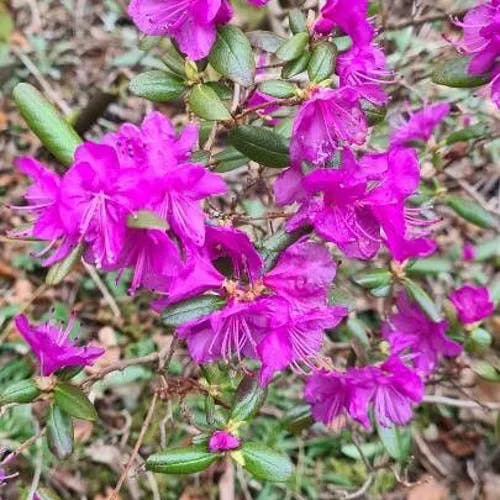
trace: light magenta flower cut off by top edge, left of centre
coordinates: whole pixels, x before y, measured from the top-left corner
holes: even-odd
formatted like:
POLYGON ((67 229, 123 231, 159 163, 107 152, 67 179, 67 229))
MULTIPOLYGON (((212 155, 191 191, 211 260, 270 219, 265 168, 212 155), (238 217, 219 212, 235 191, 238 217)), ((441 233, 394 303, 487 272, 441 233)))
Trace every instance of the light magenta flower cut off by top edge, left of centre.
POLYGON ((232 10, 227 0, 132 0, 128 13, 146 35, 170 36, 193 60, 206 57, 232 10))

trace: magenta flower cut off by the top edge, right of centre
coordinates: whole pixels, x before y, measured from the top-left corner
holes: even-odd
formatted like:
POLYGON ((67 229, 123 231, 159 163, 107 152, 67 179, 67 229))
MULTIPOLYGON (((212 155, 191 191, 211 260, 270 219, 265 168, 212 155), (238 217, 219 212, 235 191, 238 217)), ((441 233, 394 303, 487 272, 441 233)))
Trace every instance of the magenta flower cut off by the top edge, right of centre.
POLYGON ((327 0, 314 30, 329 35, 338 27, 352 38, 354 45, 366 45, 375 35, 367 17, 368 0, 327 0))

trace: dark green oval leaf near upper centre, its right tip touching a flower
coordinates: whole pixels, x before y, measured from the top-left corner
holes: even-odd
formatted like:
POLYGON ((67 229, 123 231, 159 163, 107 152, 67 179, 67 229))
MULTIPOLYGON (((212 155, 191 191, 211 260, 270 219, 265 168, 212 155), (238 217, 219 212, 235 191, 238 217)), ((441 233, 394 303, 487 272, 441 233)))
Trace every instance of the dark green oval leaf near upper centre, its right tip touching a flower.
POLYGON ((229 142, 251 160, 267 167, 284 168, 290 163, 286 139, 268 128, 235 127, 229 132, 229 142))

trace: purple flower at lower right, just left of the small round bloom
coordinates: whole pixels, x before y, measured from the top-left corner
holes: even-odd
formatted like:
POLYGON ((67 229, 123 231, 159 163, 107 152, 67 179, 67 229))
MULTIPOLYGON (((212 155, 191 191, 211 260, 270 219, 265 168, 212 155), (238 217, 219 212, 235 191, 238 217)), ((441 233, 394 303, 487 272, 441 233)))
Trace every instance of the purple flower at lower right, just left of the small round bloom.
POLYGON ((382 325, 382 335, 393 354, 409 350, 411 363, 419 374, 433 372, 441 356, 458 356, 462 346, 446 336, 448 323, 434 322, 406 293, 397 298, 397 312, 382 325))

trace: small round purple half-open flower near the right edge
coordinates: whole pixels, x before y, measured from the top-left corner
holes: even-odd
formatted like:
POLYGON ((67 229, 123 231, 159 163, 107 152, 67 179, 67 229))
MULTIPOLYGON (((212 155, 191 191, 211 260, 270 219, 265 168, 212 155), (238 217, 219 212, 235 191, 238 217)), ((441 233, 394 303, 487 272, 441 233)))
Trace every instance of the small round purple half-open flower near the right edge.
POLYGON ((449 295, 461 323, 469 324, 487 318, 495 304, 484 286, 463 285, 449 295))

